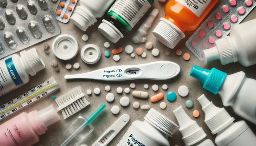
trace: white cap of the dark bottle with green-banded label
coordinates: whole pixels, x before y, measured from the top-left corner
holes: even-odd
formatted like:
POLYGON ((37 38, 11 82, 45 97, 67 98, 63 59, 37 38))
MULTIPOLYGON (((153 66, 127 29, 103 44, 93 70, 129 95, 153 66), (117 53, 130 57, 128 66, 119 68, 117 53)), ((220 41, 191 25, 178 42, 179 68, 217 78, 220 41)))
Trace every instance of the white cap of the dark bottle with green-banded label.
POLYGON ((124 37, 124 35, 107 20, 102 20, 102 23, 98 29, 105 37, 109 39, 109 41, 112 41, 113 43, 116 43, 120 40, 120 38, 124 37))

